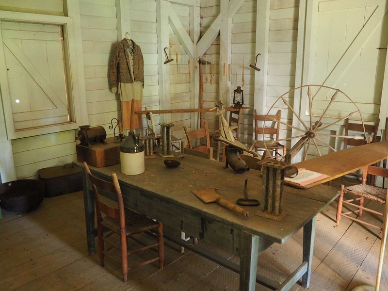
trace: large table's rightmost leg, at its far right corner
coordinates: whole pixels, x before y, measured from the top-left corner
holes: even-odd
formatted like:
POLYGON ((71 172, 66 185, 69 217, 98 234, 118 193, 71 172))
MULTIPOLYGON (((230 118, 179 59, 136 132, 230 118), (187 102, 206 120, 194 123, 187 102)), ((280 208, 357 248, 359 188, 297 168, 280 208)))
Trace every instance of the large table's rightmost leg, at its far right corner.
POLYGON ((307 288, 310 285, 312 254, 314 249, 315 239, 315 222, 317 217, 314 216, 303 227, 303 261, 307 262, 307 272, 302 276, 302 287, 307 288))

